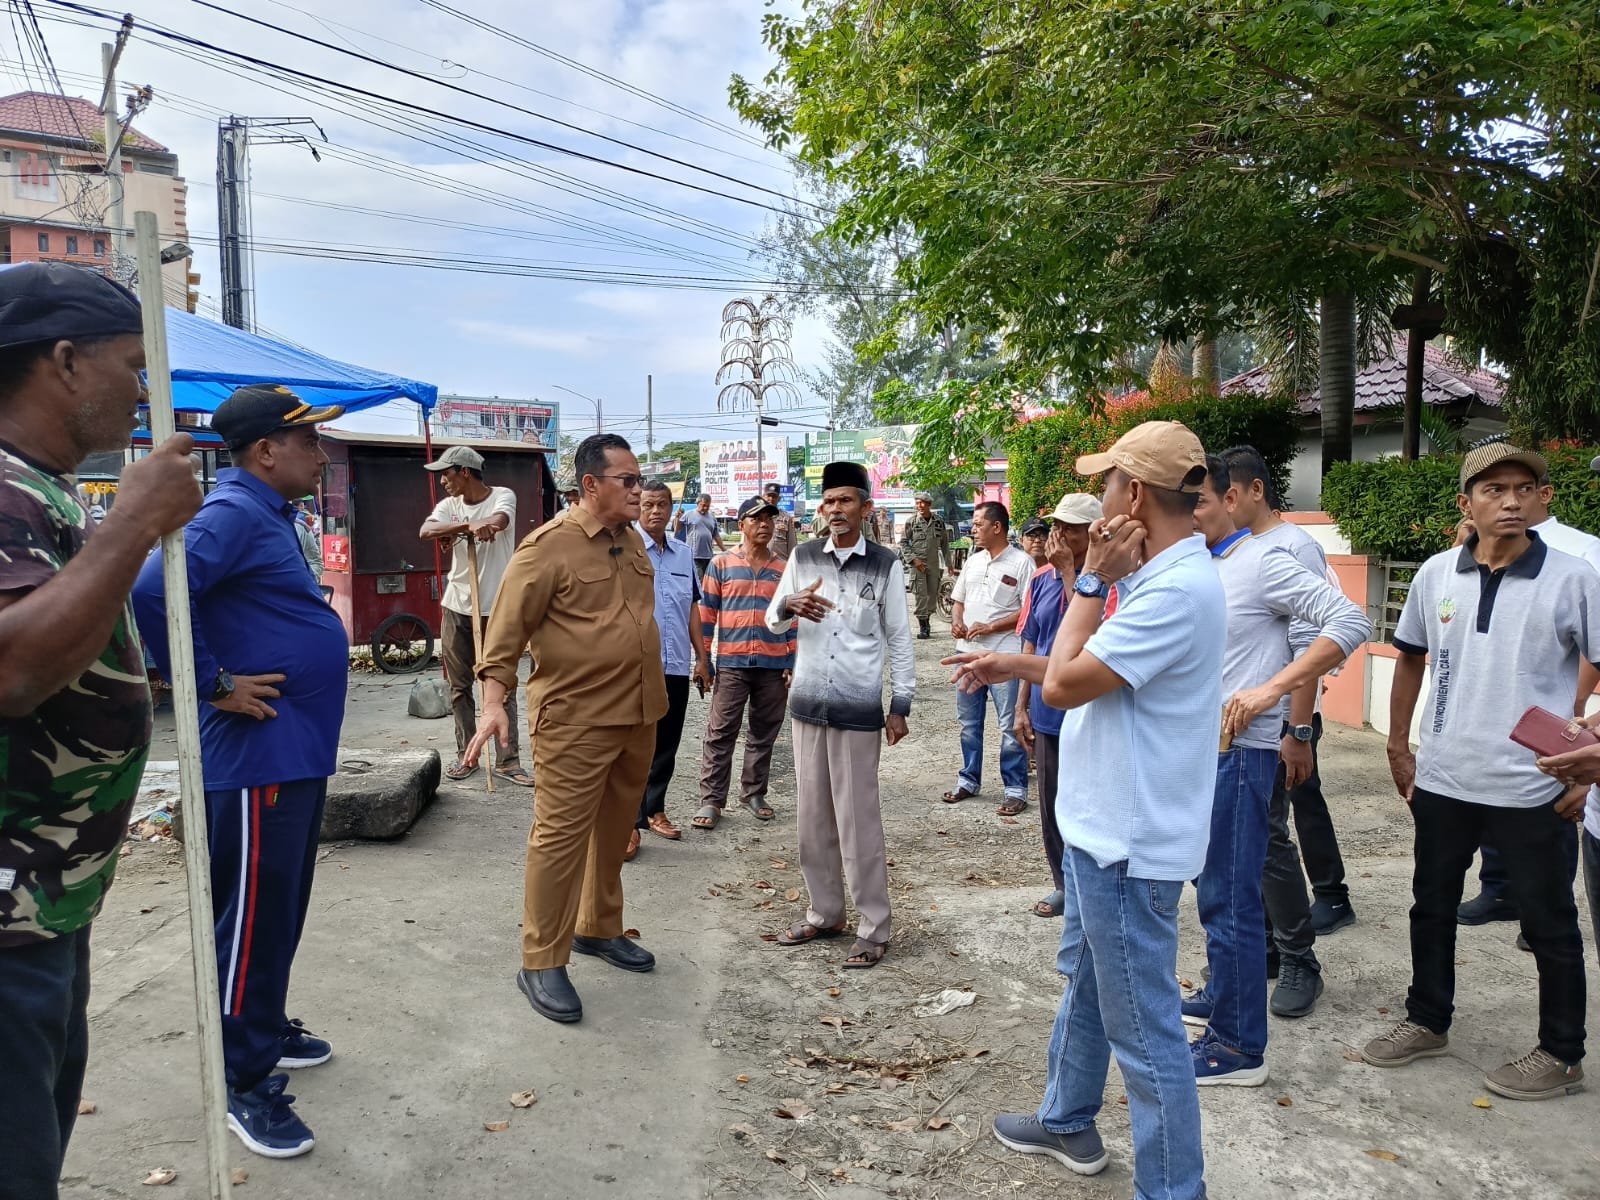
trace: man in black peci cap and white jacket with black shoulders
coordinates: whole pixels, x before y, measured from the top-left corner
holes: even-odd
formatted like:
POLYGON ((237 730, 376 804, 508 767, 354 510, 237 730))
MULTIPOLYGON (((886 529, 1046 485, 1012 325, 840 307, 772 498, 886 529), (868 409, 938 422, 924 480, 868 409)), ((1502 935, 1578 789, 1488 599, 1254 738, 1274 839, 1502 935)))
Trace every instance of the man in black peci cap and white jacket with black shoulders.
POLYGON ((861 923, 846 968, 883 960, 890 941, 890 877, 878 808, 878 752, 906 736, 917 690, 906 573, 899 558, 869 542, 862 525, 872 491, 859 462, 822 467, 827 541, 795 549, 766 608, 766 627, 787 634, 798 621, 789 693, 795 739, 795 816, 805 920, 778 936, 803 946, 845 933, 845 883, 861 923), (883 715, 883 658, 890 661, 890 712, 883 715))

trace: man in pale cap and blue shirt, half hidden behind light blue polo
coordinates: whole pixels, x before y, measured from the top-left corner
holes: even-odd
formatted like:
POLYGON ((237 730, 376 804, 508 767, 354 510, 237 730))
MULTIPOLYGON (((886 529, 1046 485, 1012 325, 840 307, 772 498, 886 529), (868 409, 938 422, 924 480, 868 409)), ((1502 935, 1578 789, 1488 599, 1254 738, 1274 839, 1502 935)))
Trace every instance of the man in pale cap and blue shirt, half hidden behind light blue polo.
MULTIPOLYGON (((1067 571, 1078 578, 1083 555, 1090 549, 1090 525, 1106 514, 1098 499, 1083 491, 1062 496, 1050 514, 1050 536, 1045 539, 1046 565, 1034 573, 1022 603, 1022 653, 1050 658, 1056 630, 1067 611, 1067 571)), ((1045 704, 1030 682, 1022 680, 1016 693, 1016 739, 1032 752, 1038 770, 1038 824, 1045 834, 1045 858, 1056 890, 1034 906, 1038 917, 1059 917, 1064 899, 1061 856, 1066 846, 1056 826, 1056 779, 1061 766, 1061 709, 1045 704)))

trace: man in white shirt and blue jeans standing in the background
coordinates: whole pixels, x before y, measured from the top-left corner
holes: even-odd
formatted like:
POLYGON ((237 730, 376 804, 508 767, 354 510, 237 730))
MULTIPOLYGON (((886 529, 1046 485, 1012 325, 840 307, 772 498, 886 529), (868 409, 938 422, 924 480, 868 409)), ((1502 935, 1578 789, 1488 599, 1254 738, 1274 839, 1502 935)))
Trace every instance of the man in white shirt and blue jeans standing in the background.
MULTIPOLYGON (((1016 654, 1022 638, 1016 618, 1022 611, 1034 560, 1011 546, 1011 515, 1005 504, 986 501, 973 510, 973 554, 955 581, 950 634, 957 651, 986 650, 1016 654)), ((994 704, 1000 725, 1000 781, 1005 800, 995 810, 1014 816, 1027 808, 1027 750, 1016 739, 1016 680, 976 691, 955 691, 955 715, 962 722, 962 773, 944 794, 947 805, 978 795, 984 779, 984 714, 994 704)))

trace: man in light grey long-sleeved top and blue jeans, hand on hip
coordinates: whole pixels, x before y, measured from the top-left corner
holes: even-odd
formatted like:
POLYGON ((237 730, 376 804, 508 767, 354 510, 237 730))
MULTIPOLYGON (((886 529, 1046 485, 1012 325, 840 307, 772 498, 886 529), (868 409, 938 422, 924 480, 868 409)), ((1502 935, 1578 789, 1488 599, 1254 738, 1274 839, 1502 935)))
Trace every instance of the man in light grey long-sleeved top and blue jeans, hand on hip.
MULTIPOLYGON (((1184 1000, 1184 1021, 1205 1027, 1195 1043, 1195 1083, 1259 1086, 1267 1082, 1267 1003, 1261 979, 1267 939, 1261 869, 1267 856, 1267 802, 1278 771, 1282 702, 1366 642, 1366 614, 1288 550, 1235 530, 1238 486, 1222 459, 1206 459, 1195 528, 1206 539, 1227 594, 1222 656, 1222 746, 1211 802, 1211 840, 1195 883, 1211 978, 1184 1000), (1290 622, 1312 642, 1290 648, 1290 622)), ((1272 1010, 1304 1016, 1322 992, 1315 957, 1285 966, 1272 1010)))

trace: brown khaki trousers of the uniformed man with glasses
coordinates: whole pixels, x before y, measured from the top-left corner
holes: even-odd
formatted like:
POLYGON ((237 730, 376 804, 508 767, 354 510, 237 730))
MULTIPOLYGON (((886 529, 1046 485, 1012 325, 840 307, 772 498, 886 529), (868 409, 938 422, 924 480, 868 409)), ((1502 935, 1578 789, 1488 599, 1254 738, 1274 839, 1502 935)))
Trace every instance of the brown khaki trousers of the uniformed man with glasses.
POLYGON ((522 893, 522 965, 565 966, 573 934, 622 933, 622 854, 656 725, 558 725, 533 742, 534 811, 522 893))

